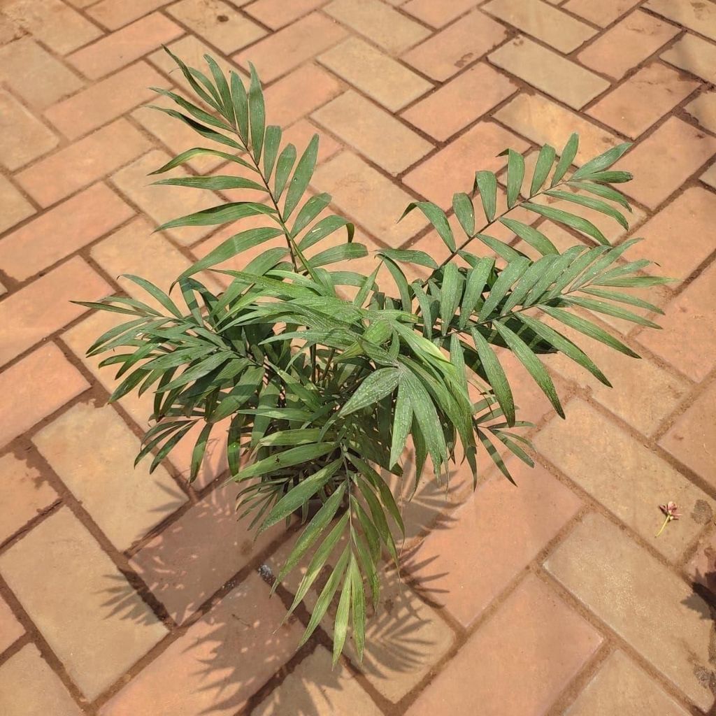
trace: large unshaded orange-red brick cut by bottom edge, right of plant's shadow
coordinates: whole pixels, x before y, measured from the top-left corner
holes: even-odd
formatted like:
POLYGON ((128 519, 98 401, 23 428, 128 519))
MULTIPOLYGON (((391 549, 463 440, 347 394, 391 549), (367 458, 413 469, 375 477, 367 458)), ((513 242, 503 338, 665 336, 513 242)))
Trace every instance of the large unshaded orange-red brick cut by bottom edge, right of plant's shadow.
POLYGON ((406 715, 463 714, 480 704, 480 716, 538 716, 599 644, 599 634, 530 575, 406 715))

